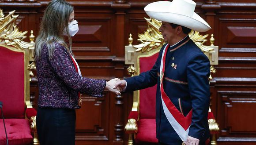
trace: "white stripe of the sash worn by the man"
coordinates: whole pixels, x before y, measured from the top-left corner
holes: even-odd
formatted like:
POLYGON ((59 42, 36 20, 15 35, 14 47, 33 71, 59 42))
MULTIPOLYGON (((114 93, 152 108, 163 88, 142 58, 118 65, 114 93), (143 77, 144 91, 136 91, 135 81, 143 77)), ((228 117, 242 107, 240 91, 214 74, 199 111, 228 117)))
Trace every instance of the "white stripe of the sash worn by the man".
MULTIPOLYGON (((167 46, 168 46, 168 44, 166 45, 166 47, 167 46)), ((163 69, 163 57, 164 57, 165 51, 167 51, 166 47, 164 48, 164 50, 162 52, 162 59, 161 59, 161 65, 160 65, 160 90, 161 90, 161 85, 162 85, 161 74, 162 74, 162 69, 163 69)), ((179 135, 181 140, 187 141, 190 126, 188 127, 187 130, 184 130, 184 128, 180 125, 180 123, 178 123, 177 120, 175 120, 175 118, 173 117, 173 115, 169 112, 165 102, 163 101, 162 93, 160 93, 160 94, 161 94, 161 99, 162 99, 163 110, 164 110, 167 120, 169 121, 169 123, 171 124, 173 129, 176 131, 176 133, 179 135)))

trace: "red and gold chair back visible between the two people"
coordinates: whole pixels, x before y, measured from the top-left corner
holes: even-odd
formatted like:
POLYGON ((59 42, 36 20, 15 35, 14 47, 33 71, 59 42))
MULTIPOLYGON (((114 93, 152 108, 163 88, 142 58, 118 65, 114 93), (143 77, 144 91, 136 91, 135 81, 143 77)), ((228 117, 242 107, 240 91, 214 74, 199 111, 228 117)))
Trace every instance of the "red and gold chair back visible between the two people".
MULTIPOLYGON (((161 33, 158 31, 161 23, 155 19, 146 19, 148 22, 148 30, 144 34, 139 34, 139 41, 142 44, 132 46, 132 38, 130 34, 129 46, 125 46, 125 64, 130 64, 128 73, 132 72, 134 75, 139 75, 141 72, 150 70, 156 59, 158 58, 158 52, 162 47, 163 38, 161 33), (145 37, 148 35, 154 35, 152 38, 155 42, 148 40, 144 42, 145 37), (137 49, 136 49, 137 48, 137 49), (132 66, 134 65, 134 67, 132 66)), ((134 91, 133 93, 133 107, 132 111, 139 112, 139 119, 155 119, 155 95, 156 85, 140 91, 134 91)))

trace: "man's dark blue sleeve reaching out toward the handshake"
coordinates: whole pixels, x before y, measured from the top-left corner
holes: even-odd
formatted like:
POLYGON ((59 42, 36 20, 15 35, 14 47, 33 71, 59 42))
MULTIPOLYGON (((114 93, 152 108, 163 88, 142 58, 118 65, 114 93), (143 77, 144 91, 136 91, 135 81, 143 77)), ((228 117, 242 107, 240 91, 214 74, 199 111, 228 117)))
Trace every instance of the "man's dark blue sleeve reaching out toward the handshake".
POLYGON ((158 78, 157 72, 160 67, 162 51, 164 47, 165 45, 161 48, 157 61, 155 62, 151 70, 147 72, 143 72, 139 74, 139 76, 133 76, 125 79, 127 82, 127 87, 125 91, 141 90, 147 87, 152 87, 157 83, 157 78, 158 78))

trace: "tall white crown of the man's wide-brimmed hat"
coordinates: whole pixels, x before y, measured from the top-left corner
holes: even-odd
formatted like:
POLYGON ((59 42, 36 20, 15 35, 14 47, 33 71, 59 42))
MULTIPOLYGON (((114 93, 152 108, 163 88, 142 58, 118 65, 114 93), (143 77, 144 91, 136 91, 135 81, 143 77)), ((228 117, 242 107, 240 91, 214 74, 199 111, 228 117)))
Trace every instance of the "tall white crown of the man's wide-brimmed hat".
POLYGON ((192 17, 196 8, 193 0, 173 0, 170 4, 169 11, 173 13, 192 17))

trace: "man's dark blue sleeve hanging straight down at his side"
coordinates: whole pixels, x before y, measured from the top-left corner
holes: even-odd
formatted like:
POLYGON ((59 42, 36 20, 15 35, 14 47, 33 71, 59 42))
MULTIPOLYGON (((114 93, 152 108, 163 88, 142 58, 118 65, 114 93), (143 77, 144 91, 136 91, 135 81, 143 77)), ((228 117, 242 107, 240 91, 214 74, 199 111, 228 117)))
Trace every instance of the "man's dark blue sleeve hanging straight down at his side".
MULTIPOLYGON (((192 123, 188 135, 201 139, 205 132, 210 105, 210 62, 204 54, 196 54, 188 62, 188 88, 192 100, 192 123)), ((208 123, 207 123, 208 124, 208 123)))

